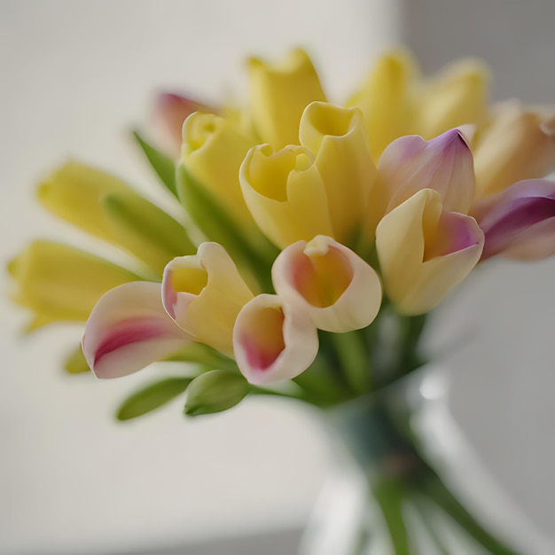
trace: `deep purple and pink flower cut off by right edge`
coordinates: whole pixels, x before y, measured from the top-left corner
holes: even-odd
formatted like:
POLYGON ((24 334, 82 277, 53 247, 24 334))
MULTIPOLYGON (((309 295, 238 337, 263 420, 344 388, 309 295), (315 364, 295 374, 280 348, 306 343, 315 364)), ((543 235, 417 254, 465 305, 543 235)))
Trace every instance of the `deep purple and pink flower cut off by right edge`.
POLYGON ((555 254, 555 183, 528 179, 476 205, 486 242, 482 260, 503 254, 537 260, 555 254))

